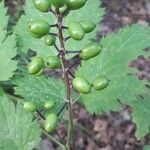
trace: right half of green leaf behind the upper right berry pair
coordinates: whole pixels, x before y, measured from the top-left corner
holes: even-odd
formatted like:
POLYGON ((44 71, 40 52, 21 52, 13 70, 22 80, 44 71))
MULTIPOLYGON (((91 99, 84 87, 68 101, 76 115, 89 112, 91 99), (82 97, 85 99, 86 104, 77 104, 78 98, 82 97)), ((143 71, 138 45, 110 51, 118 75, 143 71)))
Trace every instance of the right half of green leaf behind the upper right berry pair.
MULTIPOLYGON (((95 38, 96 33, 99 30, 99 22, 102 20, 104 15, 104 8, 100 8, 101 2, 99 0, 88 0, 86 5, 79 9, 71 11, 71 13, 65 17, 65 24, 68 25, 69 22, 72 21, 82 21, 82 20, 91 20, 95 24, 97 24, 97 28, 85 35, 84 39, 81 41, 75 41, 73 39, 69 39, 66 43, 67 50, 80 50, 83 49, 85 45, 87 45, 92 38, 95 38)), ((68 35, 68 33, 66 33, 68 35)))

